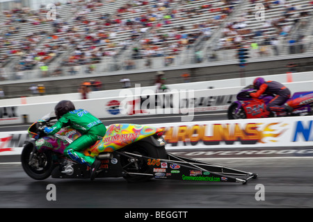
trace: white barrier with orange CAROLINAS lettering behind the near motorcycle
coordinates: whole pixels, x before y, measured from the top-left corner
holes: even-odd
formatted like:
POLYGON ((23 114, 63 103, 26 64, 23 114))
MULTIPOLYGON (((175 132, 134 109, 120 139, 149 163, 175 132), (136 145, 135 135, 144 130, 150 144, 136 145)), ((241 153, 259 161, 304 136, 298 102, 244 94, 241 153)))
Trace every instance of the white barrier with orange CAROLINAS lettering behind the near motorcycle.
MULTIPOLYGON (((160 123, 168 151, 184 149, 313 146, 313 117, 160 123)), ((0 133, 0 155, 16 155, 26 131, 0 133)), ((312 151, 312 150, 310 150, 312 151)))

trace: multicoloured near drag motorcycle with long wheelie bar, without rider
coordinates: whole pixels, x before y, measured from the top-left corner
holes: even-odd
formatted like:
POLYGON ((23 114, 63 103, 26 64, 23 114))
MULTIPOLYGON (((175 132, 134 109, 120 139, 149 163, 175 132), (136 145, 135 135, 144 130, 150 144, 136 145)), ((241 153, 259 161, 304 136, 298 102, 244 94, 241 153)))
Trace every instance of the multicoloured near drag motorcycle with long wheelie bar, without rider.
MULTIPOLYGON (((90 178, 90 167, 69 160, 63 151, 81 134, 67 126, 55 135, 46 135, 45 126, 56 120, 47 114, 28 130, 31 139, 24 145, 21 161, 26 174, 35 180, 52 178, 90 178)), ((151 178, 241 182, 256 178, 256 173, 221 167, 171 155, 166 152, 164 129, 136 124, 112 124, 106 135, 84 151, 102 162, 96 178, 125 178, 143 182, 151 178)))

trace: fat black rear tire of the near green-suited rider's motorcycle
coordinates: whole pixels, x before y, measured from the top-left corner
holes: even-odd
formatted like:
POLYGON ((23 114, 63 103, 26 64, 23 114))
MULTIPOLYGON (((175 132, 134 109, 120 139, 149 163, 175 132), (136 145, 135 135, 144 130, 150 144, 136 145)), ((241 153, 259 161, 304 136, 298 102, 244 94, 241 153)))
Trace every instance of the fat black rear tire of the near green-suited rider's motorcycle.
MULTIPOLYGON (((127 148, 127 150, 125 151, 129 153, 143 155, 145 157, 152 157, 154 159, 167 159, 168 158, 168 154, 166 153, 166 149, 164 146, 155 147, 155 146, 152 146, 152 144, 149 144, 147 142, 138 142, 134 145, 136 146, 131 146, 127 148)), ((146 158, 143 158, 143 157, 136 157, 137 165, 135 163, 130 164, 129 159, 127 157, 122 157, 121 163, 125 171, 129 173, 147 173, 147 174, 153 173, 150 167, 147 165, 146 158)), ((124 176, 123 178, 125 178, 127 182, 145 182, 153 178, 153 176, 127 174, 127 176, 124 176)))

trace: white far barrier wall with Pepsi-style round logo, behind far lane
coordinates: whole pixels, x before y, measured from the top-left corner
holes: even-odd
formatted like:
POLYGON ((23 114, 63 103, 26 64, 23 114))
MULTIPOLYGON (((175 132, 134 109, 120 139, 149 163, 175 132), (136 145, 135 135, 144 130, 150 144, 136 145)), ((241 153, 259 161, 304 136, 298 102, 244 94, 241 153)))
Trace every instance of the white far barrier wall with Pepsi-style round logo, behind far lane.
MULTIPOLYGON (((292 92, 312 90, 313 82, 291 83, 292 92)), ((236 100, 241 87, 223 89, 171 89, 156 94, 152 89, 123 89, 110 98, 73 101, 98 118, 184 114, 182 121, 192 121, 195 112, 225 111, 236 100)), ((62 99, 67 99, 63 97, 62 99)), ((57 102, 0 107, 0 124, 31 123, 54 110, 57 102)))

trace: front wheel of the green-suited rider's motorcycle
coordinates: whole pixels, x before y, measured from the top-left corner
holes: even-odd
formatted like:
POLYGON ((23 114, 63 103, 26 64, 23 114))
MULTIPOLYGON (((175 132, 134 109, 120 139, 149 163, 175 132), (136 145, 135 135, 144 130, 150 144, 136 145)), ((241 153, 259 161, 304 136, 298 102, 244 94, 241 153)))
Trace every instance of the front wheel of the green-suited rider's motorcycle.
POLYGON ((45 180, 54 169, 51 152, 39 153, 31 142, 25 144, 21 162, 25 173, 35 180, 45 180))

